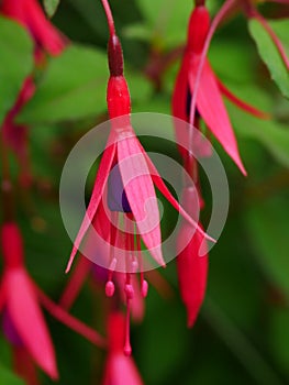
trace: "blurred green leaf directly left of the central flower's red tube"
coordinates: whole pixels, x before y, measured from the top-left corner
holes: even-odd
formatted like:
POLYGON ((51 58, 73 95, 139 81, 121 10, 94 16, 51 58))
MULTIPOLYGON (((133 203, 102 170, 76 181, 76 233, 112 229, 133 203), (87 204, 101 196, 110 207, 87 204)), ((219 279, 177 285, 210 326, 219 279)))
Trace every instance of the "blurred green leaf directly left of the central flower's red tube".
POLYGON ((23 108, 22 123, 53 123, 97 116, 105 110, 108 64, 104 53, 69 46, 51 58, 35 96, 23 108))

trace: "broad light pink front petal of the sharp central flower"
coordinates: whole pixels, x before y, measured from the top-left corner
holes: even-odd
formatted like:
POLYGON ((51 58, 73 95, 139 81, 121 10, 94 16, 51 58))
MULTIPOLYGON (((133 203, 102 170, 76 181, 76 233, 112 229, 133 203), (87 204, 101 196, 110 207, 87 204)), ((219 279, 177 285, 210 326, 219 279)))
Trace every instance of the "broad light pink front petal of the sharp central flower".
POLYGON ((152 256, 164 266, 156 193, 143 148, 134 135, 118 142, 118 162, 137 229, 152 256))

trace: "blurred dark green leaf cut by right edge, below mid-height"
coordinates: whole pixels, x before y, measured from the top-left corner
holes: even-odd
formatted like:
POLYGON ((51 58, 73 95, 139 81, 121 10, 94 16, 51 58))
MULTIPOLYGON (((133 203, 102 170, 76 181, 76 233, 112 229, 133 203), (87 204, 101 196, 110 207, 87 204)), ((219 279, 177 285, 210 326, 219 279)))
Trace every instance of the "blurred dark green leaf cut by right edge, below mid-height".
POLYGON ((247 233, 267 278, 289 297, 288 197, 252 205, 245 212, 247 233))

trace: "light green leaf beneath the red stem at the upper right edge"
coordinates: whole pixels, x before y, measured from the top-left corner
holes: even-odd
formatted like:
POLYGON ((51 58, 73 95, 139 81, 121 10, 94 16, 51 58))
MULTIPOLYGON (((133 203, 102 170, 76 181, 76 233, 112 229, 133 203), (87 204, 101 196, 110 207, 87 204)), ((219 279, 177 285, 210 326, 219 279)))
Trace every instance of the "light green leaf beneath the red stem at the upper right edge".
MULTIPOLYGON (((289 21, 287 20, 286 22, 288 31, 289 21)), ((275 22, 275 26, 276 25, 278 24, 275 22)), ((274 42, 257 20, 252 19, 248 22, 248 28, 257 45, 259 55, 270 72, 273 80, 277 84, 282 95, 289 98, 289 70, 274 42)), ((284 28, 284 25, 281 25, 281 28, 284 28)))

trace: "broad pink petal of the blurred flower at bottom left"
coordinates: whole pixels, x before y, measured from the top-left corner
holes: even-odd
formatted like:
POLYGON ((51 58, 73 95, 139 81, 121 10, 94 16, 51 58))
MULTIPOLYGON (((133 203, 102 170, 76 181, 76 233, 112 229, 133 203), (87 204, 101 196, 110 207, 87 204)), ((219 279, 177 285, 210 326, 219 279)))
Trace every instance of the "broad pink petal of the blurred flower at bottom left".
POLYGON ((9 270, 4 285, 8 311, 25 348, 43 371, 56 380, 53 343, 30 277, 22 268, 9 270))

